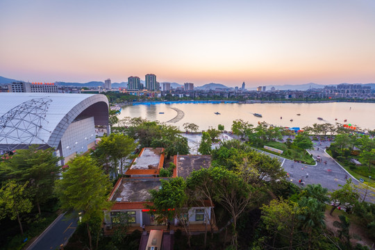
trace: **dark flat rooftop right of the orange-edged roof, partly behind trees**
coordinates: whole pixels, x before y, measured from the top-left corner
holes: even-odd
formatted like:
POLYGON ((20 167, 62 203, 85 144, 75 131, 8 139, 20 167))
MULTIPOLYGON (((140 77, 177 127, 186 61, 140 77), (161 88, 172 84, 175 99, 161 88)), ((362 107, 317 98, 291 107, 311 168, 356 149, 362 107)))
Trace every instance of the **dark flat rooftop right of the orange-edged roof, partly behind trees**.
POLYGON ((211 165, 211 156, 175 156, 177 176, 188 178, 194 170, 208 168, 211 165))

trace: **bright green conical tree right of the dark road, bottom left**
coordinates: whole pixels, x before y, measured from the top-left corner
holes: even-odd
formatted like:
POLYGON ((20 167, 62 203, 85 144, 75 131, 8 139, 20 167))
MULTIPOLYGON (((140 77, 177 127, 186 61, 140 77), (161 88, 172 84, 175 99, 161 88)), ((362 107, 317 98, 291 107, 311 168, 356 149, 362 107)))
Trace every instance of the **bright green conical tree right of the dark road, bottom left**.
POLYGON ((103 210, 110 208, 111 203, 107 199, 112 185, 90 156, 76 156, 68 165, 63 178, 56 181, 56 193, 61 208, 82 213, 82 223, 86 224, 88 243, 92 249, 90 222, 98 217, 103 219, 103 210))

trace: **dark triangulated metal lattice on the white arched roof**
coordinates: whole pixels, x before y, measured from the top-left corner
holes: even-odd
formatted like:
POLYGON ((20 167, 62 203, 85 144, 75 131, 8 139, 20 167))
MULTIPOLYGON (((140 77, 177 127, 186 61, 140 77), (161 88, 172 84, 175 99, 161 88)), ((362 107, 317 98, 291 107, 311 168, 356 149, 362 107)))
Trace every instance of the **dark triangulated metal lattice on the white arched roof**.
POLYGON ((0 150, 25 149, 35 144, 35 139, 45 143, 38 135, 40 130, 47 131, 43 128, 43 124, 48 124, 45 118, 51 101, 52 99, 48 98, 31 99, 2 115, 0 117, 0 150))

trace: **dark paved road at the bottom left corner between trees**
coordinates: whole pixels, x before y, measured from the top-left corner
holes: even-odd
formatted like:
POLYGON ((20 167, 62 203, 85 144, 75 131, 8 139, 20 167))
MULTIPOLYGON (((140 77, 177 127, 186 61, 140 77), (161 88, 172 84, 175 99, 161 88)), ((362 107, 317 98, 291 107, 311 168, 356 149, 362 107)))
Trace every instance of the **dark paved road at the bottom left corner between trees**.
POLYGON ((55 250, 76 231, 77 219, 60 215, 26 250, 55 250))

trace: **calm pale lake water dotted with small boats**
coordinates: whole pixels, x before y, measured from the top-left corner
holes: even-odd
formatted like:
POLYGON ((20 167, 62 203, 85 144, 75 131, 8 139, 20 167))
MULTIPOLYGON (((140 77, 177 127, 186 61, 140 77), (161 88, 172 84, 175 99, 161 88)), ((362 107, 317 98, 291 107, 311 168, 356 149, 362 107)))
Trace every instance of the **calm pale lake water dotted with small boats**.
POLYGON ((314 123, 340 122, 375 129, 375 103, 160 103, 123 107, 119 119, 142 117, 167 122, 177 115, 176 110, 171 108, 178 108, 185 113, 179 122, 169 123, 181 129, 184 123, 190 122, 197 124, 200 130, 207 130, 209 126, 217 128, 218 124, 223 124, 226 130, 230 130, 235 119, 243 119, 254 125, 267 122, 275 126, 303 128, 314 123), (215 115, 215 112, 221 115, 215 115), (259 113, 263 117, 255 117, 253 113, 259 113), (320 121, 317 117, 322 117, 323 120, 320 121), (293 122, 290 119, 293 119, 293 122), (347 122, 344 122, 344 119, 347 119, 347 122))

